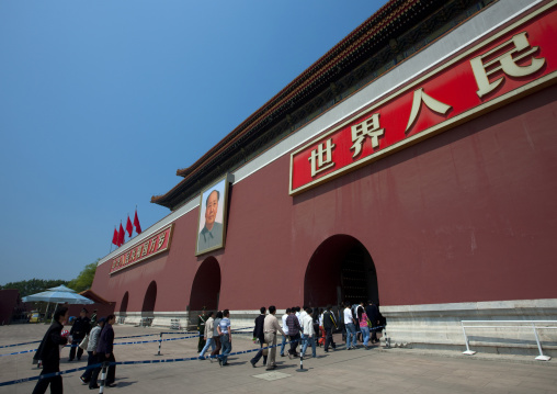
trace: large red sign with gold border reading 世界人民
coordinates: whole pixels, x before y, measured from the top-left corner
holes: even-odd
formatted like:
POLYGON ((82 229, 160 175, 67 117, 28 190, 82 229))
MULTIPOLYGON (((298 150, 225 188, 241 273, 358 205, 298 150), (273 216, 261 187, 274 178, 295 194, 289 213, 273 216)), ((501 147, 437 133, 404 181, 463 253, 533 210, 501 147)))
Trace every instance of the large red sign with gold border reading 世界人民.
POLYGON ((289 193, 300 193, 554 83, 555 5, 553 1, 532 12, 294 151, 289 193))

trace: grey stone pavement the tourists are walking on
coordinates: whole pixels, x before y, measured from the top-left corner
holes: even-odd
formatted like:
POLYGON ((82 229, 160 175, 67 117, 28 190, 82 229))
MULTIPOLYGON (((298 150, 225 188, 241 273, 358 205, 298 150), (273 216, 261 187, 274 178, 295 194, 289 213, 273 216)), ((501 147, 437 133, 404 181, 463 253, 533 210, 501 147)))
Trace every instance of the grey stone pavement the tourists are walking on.
MULTIPOLYGON (((234 322, 232 322, 234 325, 234 322)), ((38 340, 46 325, 13 325, 0 327, 0 346, 38 340)), ((133 339, 118 337, 170 331, 159 328, 115 326, 116 341, 154 340, 158 336, 133 339)), ((174 335, 174 337, 183 335, 174 335)), ((166 335, 164 338, 172 337, 166 335)), ((232 352, 257 346, 249 336, 232 337, 232 352)), ((339 344, 339 340, 337 339, 339 344)), ((340 344, 339 344, 340 345, 340 344)), ((35 349, 35 345, 0 348, 0 354, 35 349)), ((117 361, 154 360, 195 357, 197 339, 162 344, 161 357, 155 356, 158 344, 115 346, 117 361)), ((418 349, 338 350, 304 360, 307 372, 296 372, 299 360, 277 357, 278 368, 266 373, 249 359, 254 353, 232 356, 229 367, 217 362, 183 361, 157 364, 118 365, 115 387, 105 393, 341 393, 365 390, 372 393, 557 393, 557 360, 534 361, 532 357, 497 354, 463 356, 459 352, 424 351, 418 349), (269 379, 269 380, 265 380, 269 379), (274 380, 273 380, 274 379, 274 380)), ((60 369, 84 367, 67 362, 69 349, 62 350, 60 369)), ((310 351, 308 351, 310 353, 310 351)), ((0 382, 38 375, 32 365, 33 353, 0 357, 0 382)), ((95 393, 79 380, 80 372, 62 375, 65 393, 95 393)), ((36 381, 0 386, 0 394, 31 393, 36 381)))

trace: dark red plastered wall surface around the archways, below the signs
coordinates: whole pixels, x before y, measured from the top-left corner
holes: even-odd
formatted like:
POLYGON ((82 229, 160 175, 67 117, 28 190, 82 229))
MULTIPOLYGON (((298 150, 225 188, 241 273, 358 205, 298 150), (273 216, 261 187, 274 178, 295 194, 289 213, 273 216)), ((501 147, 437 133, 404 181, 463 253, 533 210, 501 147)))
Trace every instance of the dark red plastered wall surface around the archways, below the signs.
MULTIPOLYGON (((198 210, 175 222, 171 250, 92 290, 116 311, 184 311, 203 260, 220 264, 220 308, 302 304, 304 277, 327 238, 370 251, 382 305, 557 297, 557 87, 401 150, 297 196, 289 155, 230 188, 226 248, 196 258, 198 210)), ((212 280, 207 278, 206 280, 212 280)))

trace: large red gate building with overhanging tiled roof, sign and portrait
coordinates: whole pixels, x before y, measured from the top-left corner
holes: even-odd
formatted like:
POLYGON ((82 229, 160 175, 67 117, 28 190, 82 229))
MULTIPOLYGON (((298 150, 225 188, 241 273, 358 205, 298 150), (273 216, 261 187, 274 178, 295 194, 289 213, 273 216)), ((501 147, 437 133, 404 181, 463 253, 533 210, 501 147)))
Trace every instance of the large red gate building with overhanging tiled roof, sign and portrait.
POLYGON ((555 319, 556 30, 555 1, 389 1, 178 170, 92 290, 159 326, 371 299, 396 342, 555 319))

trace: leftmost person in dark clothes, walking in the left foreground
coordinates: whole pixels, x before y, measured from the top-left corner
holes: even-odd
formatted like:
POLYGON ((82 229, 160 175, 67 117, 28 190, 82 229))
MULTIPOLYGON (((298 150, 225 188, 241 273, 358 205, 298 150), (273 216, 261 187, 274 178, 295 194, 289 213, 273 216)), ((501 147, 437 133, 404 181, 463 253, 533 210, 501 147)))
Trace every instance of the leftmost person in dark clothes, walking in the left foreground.
MULTIPOLYGON (((48 373, 60 372, 60 345, 68 344, 68 338, 61 336, 61 329, 64 328, 64 322, 68 319, 68 308, 62 306, 54 313, 54 322, 46 331, 43 341, 38 346, 38 349, 33 357, 35 360, 42 360, 43 371, 41 375, 48 373)), ((61 376, 52 376, 38 379, 33 394, 43 394, 50 384, 52 394, 62 394, 64 386, 61 383, 61 376)))

